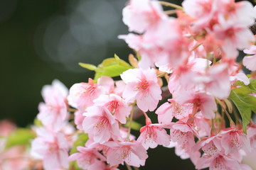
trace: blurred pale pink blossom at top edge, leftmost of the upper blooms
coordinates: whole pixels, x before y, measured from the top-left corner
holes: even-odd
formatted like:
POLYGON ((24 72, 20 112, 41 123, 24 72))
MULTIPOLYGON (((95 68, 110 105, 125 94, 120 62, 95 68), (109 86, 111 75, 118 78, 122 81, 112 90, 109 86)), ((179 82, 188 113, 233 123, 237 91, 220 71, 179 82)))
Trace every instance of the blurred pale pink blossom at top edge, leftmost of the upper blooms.
POLYGON ((157 24, 161 18, 166 17, 161 5, 151 0, 130 0, 122 14, 129 31, 137 33, 143 33, 152 25, 157 24))

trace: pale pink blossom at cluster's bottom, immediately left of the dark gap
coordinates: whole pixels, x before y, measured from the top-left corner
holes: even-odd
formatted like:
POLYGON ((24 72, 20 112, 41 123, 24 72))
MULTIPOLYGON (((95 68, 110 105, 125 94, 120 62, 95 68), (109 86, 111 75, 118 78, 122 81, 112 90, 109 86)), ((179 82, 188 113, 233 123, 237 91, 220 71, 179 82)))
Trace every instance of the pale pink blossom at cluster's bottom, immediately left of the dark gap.
POLYGON ((139 142, 106 142, 110 147, 107 152, 107 163, 111 166, 126 162, 131 166, 144 166, 148 157, 146 149, 139 142))

